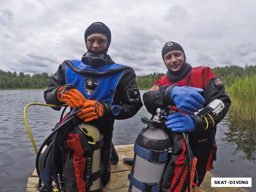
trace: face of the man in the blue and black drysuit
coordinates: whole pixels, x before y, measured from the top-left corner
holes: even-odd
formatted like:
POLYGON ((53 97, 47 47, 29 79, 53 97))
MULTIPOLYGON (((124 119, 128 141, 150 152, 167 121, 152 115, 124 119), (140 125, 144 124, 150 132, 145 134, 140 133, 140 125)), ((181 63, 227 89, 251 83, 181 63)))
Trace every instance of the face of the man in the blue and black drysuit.
POLYGON ((92 52, 101 52, 108 45, 108 36, 104 33, 91 33, 87 36, 86 44, 92 52))

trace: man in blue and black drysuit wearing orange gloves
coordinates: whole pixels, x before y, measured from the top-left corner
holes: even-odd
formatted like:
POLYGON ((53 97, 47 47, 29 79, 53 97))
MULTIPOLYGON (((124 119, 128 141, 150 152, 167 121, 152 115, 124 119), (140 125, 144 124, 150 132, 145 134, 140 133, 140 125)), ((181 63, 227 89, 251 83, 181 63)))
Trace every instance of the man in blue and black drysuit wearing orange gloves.
POLYGON ((82 60, 65 60, 60 64, 44 92, 44 99, 47 104, 66 103, 71 108, 81 108, 82 111, 77 114, 78 121, 93 122, 100 129, 104 138, 102 162, 104 159, 104 167, 107 167, 102 176, 105 186, 110 178, 111 164, 108 165, 106 162, 109 160, 106 159, 110 159, 113 146, 114 121, 134 116, 143 104, 134 70, 116 64, 107 55, 111 42, 109 28, 102 22, 92 23, 86 29, 84 38, 88 51, 82 60), (75 84, 77 89, 63 92, 65 84, 75 84))

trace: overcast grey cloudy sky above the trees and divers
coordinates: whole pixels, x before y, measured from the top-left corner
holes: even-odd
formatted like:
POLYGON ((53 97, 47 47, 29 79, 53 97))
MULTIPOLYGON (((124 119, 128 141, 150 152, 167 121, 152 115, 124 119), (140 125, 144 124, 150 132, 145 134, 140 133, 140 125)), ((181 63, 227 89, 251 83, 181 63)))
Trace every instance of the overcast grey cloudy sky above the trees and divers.
POLYGON ((0 69, 54 74, 81 59, 85 29, 111 30, 108 54, 137 75, 166 72, 161 50, 182 45, 192 67, 256 65, 254 0, 1 0, 0 69))

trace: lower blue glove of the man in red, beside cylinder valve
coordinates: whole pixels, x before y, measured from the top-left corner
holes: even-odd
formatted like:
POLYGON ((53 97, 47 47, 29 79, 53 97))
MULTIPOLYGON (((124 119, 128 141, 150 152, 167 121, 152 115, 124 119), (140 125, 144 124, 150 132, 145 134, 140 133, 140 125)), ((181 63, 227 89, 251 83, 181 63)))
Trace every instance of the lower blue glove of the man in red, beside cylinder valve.
POLYGON ((165 125, 173 132, 193 132, 196 128, 193 119, 183 113, 171 114, 167 116, 167 120, 165 125))

